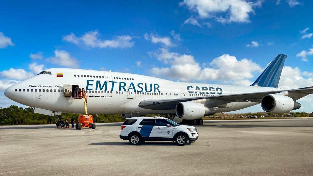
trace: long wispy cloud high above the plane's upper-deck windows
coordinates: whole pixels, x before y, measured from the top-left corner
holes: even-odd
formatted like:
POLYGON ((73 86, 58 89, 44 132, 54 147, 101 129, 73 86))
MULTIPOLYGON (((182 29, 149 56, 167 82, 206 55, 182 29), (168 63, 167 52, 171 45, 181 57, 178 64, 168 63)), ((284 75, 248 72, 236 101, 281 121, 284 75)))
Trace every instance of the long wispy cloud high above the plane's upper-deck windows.
POLYGON ((92 48, 131 48, 134 42, 131 40, 133 37, 129 35, 115 36, 112 40, 99 39, 100 34, 96 31, 89 31, 80 38, 71 33, 63 37, 64 41, 74 43, 76 45, 85 45, 92 48))

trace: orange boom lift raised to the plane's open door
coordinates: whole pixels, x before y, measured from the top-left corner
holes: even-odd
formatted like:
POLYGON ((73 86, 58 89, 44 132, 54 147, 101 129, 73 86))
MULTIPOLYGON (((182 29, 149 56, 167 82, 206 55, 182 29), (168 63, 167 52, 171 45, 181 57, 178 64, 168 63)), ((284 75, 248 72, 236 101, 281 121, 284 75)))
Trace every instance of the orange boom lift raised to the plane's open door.
POLYGON ((84 105, 85 105, 85 115, 80 114, 78 117, 78 123, 76 123, 75 128, 81 129, 82 127, 89 127, 92 129, 96 128, 96 124, 94 123, 92 115, 88 115, 87 112, 87 94, 85 92, 85 89, 82 88, 82 91, 75 92, 77 94, 77 99, 80 99, 81 97, 84 99, 84 105))

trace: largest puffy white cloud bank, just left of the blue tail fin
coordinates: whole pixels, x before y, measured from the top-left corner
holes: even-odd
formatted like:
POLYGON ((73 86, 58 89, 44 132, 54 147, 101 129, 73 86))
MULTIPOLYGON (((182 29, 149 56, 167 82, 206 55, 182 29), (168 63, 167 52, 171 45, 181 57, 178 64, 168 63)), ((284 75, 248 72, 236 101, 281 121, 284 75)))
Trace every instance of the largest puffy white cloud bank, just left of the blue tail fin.
MULTIPOLYGON (((160 48, 158 52, 152 53, 163 63, 170 64, 170 67, 151 68, 150 73, 159 77, 190 80, 238 80, 246 82, 244 79, 253 78, 252 72, 262 69, 256 63, 246 58, 237 60, 236 57, 228 54, 215 58, 211 67, 201 68, 192 55, 169 52, 160 48)), ((205 65, 203 65, 205 66, 205 65)))

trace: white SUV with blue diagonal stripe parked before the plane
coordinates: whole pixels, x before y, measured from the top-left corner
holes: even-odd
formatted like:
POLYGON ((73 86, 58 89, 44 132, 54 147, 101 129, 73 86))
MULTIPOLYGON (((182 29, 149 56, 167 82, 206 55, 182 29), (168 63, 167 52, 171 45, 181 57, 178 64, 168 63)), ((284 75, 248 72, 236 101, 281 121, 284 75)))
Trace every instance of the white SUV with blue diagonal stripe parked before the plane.
POLYGON ((131 145, 145 141, 175 141, 177 145, 186 145, 198 139, 198 131, 193 126, 178 125, 163 117, 126 118, 121 126, 120 138, 129 140, 131 145))

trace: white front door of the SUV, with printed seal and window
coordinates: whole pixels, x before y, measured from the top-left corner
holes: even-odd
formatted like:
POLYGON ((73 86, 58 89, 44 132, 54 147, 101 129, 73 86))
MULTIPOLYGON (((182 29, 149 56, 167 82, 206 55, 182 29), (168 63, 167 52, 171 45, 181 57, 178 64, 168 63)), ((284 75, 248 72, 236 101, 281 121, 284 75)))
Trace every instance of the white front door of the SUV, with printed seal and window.
POLYGON ((172 138, 173 137, 173 127, 167 126, 168 123, 164 119, 156 119, 156 126, 154 126, 156 138, 172 138))

